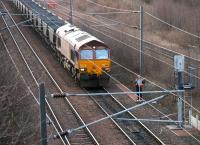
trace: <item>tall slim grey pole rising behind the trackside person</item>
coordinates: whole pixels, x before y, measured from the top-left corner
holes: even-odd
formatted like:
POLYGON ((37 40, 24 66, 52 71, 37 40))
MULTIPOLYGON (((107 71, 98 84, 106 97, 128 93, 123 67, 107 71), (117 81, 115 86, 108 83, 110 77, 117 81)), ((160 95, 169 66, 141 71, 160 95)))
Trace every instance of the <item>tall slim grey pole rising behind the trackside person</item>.
POLYGON ((144 26, 144 10, 140 6, 140 76, 144 73, 144 58, 143 58, 143 26, 144 26))

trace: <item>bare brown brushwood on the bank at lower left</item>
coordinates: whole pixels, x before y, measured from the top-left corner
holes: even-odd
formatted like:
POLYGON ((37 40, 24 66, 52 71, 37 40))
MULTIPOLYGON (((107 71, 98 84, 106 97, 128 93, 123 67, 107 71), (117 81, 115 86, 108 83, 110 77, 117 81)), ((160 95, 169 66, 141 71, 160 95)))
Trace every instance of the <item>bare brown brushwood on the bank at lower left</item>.
POLYGON ((38 144, 38 106, 6 51, 0 54, 0 144, 38 144))

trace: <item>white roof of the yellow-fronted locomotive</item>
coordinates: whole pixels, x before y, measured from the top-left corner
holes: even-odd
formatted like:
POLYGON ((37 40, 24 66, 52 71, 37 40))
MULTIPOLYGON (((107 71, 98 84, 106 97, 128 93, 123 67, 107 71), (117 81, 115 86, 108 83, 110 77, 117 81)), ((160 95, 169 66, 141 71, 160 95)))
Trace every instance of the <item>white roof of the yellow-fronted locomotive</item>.
POLYGON ((82 45, 87 44, 91 41, 98 41, 100 43, 103 43, 98 38, 80 30, 79 28, 75 27, 74 25, 71 25, 70 23, 58 28, 56 33, 64 40, 71 43, 73 47, 75 46, 76 51, 78 51, 82 45))

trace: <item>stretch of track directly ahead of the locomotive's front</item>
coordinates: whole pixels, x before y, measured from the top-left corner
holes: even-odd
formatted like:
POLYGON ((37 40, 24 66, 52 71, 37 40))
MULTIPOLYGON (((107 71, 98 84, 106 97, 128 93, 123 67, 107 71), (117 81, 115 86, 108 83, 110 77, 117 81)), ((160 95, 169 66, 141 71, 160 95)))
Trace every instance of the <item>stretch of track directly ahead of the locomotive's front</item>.
MULTIPOLYGON (((109 93, 106 89, 86 90, 88 93, 109 93)), ((90 96, 96 104, 107 114, 111 115, 127 109, 113 95, 90 96)), ((130 111, 117 116, 119 118, 137 119, 130 111)), ((111 118, 112 119, 112 118, 111 118)), ((126 122, 112 119, 113 122, 126 134, 133 144, 164 144, 153 132, 151 132, 142 122, 126 122)))

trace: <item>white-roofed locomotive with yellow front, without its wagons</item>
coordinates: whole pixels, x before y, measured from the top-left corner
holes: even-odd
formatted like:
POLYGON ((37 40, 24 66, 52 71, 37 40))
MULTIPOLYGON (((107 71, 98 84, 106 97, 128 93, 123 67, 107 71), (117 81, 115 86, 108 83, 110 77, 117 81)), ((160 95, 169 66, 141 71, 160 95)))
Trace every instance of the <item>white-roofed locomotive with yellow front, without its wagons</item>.
POLYGON ((99 87, 108 84, 109 47, 69 23, 58 28, 56 34, 58 57, 81 87, 99 87))

